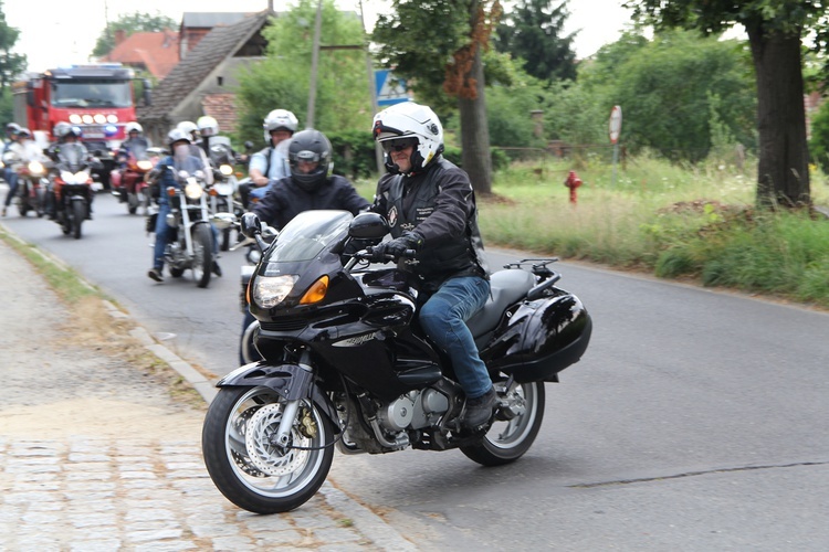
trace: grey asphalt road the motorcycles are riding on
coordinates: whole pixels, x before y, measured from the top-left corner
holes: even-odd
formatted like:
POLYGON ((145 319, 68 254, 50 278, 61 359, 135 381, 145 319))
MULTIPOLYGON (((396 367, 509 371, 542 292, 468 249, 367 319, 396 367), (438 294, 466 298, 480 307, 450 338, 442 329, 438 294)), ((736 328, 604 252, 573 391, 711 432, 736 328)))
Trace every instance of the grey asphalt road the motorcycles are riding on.
MULTIPOLYGON (((0 192, 2 195, 2 192, 0 192)), ((198 289, 156 285, 144 220, 99 195, 80 241, 3 220, 77 268, 179 354, 235 367, 241 252, 198 289)), ((517 252, 490 253, 497 266, 517 252)), ((547 385, 517 463, 459 452, 335 457, 337 487, 423 550, 827 550, 829 316, 562 263, 594 318, 581 362, 547 385)))

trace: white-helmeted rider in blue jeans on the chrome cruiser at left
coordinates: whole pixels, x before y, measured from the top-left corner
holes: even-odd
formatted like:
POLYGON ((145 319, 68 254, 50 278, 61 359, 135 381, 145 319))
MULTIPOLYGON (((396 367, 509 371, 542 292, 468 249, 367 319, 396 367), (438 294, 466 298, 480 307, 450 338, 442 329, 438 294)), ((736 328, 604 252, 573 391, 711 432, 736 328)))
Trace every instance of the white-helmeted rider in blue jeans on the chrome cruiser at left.
MULTIPOLYGON (((164 282, 164 252, 167 244, 172 238, 175 229, 167 224, 167 214, 170 212, 170 202, 167 193, 164 192, 169 187, 180 188, 176 173, 180 170, 187 171, 190 174, 195 174, 198 171, 207 176, 210 171, 201 158, 192 155, 192 142, 190 136, 179 129, 174 128, 167 135, 167 142, 170 148, 170 155, 161 159, 158 162, 157 169, 158 183, 161 192, 158 194, 158 217, 156 219, 156 243, 153 250, 153 268, 149 269, 147 276, 156 282, 164 282)), ((213 233, 213 254, 219 253, 219 232, 216 226, 211 223, 210 227, 213 233)), ((213 261, 213 274, 221 276, 222 272, 219 267, 219 263, 213 261)))

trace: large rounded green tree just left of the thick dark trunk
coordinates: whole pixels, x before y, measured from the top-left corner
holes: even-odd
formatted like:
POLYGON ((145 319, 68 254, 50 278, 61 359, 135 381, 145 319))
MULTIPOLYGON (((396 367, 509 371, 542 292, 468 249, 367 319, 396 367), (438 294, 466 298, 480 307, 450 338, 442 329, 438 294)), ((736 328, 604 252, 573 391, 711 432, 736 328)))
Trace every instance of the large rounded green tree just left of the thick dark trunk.
POLYGON ((712 134, 727 128, 754 149, 756 92, 751 62, 736 40, 676 30, 647 41, 628 33, 604 46, 584 76, 604 107, 604 123, 613 105, 622 107, 630 148, 696 162, 709 155, 712 134))

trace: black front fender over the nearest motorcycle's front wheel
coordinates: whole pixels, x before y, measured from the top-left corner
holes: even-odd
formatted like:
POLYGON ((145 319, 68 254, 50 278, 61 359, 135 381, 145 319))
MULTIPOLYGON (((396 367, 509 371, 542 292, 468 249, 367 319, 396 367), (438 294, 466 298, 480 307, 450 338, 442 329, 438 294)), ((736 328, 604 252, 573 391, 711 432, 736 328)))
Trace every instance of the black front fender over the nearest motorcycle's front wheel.
POLYGON ((239 367, 219 380, 217 388, 259 388, 273 390, 285 401, 309 397, 321 412, 330 420, 334 431, 339 433, 339 418, 328 397, 314 385, 314 374, 298 364, 271 365, 266 362, 251 362, 239 367))

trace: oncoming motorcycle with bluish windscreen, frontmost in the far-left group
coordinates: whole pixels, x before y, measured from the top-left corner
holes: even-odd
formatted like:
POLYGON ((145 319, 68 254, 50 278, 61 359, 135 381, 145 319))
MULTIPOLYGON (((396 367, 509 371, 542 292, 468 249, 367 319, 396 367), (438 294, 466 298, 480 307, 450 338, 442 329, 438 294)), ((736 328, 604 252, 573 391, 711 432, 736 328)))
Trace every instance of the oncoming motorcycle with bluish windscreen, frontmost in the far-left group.
MULTIPOLYGON (((80 240, 83 222, 90 217, 95 182, 93 159, 80 144, 61 146, 52 177, 55 222, 65 235, 80 240)), ((98 184, 99 185, 99 184, 98 184)))

